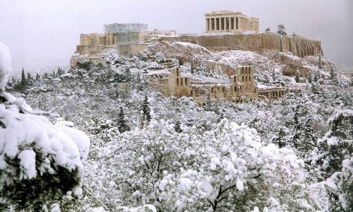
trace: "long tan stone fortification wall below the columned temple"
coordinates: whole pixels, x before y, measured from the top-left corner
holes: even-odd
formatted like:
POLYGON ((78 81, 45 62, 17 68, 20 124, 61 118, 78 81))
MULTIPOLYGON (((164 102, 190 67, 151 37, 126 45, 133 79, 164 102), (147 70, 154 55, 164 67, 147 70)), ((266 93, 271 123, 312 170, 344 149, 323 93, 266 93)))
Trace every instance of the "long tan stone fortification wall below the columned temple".
POLYGON ((283 36, 277 33, 251 33, 232 35, 181 35, 178 37, 161 37, 158 41, 181 41, 201 45, 212 51, 243 50, 260 51, 262 49, 291 52, 304 57, 316 56, 320 51, 323 55, 320 40, 298 36, 283 36))

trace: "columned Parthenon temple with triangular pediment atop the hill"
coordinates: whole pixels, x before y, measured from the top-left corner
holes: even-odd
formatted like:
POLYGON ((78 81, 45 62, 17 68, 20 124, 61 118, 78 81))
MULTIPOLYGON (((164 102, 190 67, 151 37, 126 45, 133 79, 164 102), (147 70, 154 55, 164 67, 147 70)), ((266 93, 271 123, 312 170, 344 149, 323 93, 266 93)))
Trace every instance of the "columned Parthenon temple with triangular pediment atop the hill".
POLYGON ((219 10, 205 14, 206 32, 259 31, 259 19, 241 12, 219 10))

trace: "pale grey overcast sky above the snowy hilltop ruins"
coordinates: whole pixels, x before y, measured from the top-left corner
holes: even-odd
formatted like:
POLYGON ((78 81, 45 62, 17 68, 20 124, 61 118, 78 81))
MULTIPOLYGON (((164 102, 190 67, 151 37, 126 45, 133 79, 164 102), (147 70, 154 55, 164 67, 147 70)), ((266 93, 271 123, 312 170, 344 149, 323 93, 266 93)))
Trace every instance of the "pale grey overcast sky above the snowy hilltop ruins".
POLYGON ((203 33, 203 14, 216 10, 258 17, 260 31, 283 23, 288 34, 320 39, 330 60, 353 61, 353 0, 0 0, 0 41, 15 69, 68 66, 80 34, 103 24, 203 33))

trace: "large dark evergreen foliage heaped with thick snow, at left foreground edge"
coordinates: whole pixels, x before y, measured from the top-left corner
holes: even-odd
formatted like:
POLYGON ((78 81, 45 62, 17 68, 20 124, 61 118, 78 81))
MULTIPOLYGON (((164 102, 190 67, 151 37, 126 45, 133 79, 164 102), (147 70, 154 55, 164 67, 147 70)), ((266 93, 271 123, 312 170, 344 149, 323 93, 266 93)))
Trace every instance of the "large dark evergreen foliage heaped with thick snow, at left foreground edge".
MULTIPOLYGON (((11 71, 0 43, 0 82, 11 71)), ((66 211, 82 195, 83 161, 90 141, 83 132, 54 126, 24 99, 0 88, 1 210, 66 211)))

